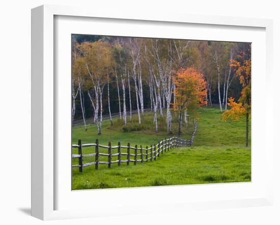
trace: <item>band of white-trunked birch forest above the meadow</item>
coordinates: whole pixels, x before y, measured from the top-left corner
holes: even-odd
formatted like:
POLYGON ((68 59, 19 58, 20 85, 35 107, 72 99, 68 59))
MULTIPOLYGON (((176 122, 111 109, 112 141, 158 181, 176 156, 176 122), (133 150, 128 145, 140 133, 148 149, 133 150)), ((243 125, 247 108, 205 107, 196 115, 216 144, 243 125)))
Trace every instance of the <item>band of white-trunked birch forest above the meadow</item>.
POLYGON ((249 43, 237 42, 72 35, 72 121, 83 119, 87 129, 86 118, 93 118, 101 133, 102 115, 118 113, 125 126, 137 110, 141 124, 144 109, 151 108, 155 129, 164 116, 171 131, 175 107, 182 109, 180 122, 197 108, 178 103, 186 98, 178 90, 194 76, 200 90, 190 95, 199 93, 200 104, 226 111, 228 99, 239 99, 242 90, 231 62, 248 49, 249 43))

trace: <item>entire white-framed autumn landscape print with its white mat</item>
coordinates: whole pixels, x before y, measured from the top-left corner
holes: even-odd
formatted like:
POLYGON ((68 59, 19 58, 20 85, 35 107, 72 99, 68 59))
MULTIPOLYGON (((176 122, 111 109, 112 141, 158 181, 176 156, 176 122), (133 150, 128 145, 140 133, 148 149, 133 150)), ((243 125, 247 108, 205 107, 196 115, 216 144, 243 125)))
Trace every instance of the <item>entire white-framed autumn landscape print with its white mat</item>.
POLYGON ((32 215, 271 204, 271 34, 265 19, 33 9, 32 215))

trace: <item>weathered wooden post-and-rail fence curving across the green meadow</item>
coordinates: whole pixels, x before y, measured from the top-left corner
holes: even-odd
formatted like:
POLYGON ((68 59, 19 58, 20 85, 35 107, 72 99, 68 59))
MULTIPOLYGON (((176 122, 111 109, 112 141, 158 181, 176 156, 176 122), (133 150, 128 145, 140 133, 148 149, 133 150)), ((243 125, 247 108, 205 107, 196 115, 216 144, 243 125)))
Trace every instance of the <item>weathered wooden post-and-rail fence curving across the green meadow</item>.
POLYGON ((77 145, 72 145, 72 148, 78 148, 78 154, 72 154, 72 158, 78 158, 78 164, 72 165, 72 167, 79 167, 79 172, 82 172, 83 167, 87 167, 90 165, 95 165, 95 169, 98 170, 99 164, 107 164, 108 168, 111 168, 111 164, 114 163, 118 163, 118 166, 120 166, 121 163, 126 163, 127 165, 130 165, 130 162, 133 162, 133 164, 136 165, 137 162, 143 163, 156 160, 160 157, 160 154, 162 155, 163 152, 169 151, 170 149, 183 146, 190 147, 194 141, 195 132, 197 132, 197 128, 198 123, 196 121, 194 131, 190 139, 182 139, 177 136, 173 136, 170 138, 161 139, 157 144, 151 145, 149 148, 148 146, 146 148, 143 148, 142 145, 140 147, 138 147, 137 145, 135 145, 135 147, 132 147, 130 146, 130 143, 128 143, 127 146, 122 146, 121 142, 119 142, 117 146, 111 146, 111 142, 108 143, 108 146, 104 146, 99 144, 98 139, 96 139, 96 142, 94 144, 82 144, 81 139, 79 139, 77 145), (95 146, 95 153, 82 154, 83 148, 93 146, 95 146), (107 153, 100 152, 101 148, 107 149, 107 153), (112 154, 112 149, 118 149, 118 152, 112 154), (122 149, 125 149, 126 152, 122 152, 122 149), (121 159, 122 155, 127 156, 125 160, 121 159), (95 161, 88 162, 85 164, 82 162, 83 157, 93 156, 95 156, 95 161), (99 156, 107 156, 107 161, 99 161, 99 156), (118 159, 112 160, 112 157, 114 156, 117 156, 118 159), (131 159, 131 156, 133 157, 133 159, 131 159))

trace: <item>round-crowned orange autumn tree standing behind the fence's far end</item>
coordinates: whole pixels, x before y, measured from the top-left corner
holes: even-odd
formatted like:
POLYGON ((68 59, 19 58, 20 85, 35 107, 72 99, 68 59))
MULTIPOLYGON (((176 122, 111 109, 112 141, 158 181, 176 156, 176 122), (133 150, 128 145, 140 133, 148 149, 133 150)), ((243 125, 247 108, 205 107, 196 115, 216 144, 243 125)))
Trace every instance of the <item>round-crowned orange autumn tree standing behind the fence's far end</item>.
POLYGON ((176 86, 174 110, 179 113, 179 130, 178 136, 181 134, 182 112, 185 110, 195 110, 199 106, 206 104, 206 81, 204 75, 195 68, 189 67, 181 69, 174 77, 176 86))

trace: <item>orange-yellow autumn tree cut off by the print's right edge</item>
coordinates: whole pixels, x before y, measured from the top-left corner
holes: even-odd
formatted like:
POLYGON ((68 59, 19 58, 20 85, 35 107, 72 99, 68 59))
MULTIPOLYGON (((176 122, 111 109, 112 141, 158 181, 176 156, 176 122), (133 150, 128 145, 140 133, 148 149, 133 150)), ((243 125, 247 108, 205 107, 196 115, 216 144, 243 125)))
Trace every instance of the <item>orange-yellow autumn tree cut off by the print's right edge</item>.
POLYGON ((246 117, 246 147, 248 147, 249 137, 249 117, 251 115, 251 48, 242 50, 236 60, 230 60, 230 66, 235 70, 242 85, 241 96, 238 102, 233 98, 229 98, 228 105, 230 110, 226 110, 223 115, 223 120, 237 121, 240 117, 246 117))

